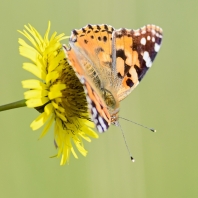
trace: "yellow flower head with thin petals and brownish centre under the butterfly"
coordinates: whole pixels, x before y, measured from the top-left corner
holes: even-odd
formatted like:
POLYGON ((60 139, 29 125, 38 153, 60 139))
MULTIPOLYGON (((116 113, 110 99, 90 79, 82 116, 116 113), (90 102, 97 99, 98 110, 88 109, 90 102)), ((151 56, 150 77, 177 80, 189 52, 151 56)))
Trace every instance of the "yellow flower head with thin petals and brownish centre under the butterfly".
POLYGON ((43 137, 55 121, 54 144, 58 148, 56 156, 62 155, 60 164, 63 165, 68 161, 71 152, 78 158, 74 145, 86 156, 87 151, 82 140, 90 142, 89 136, 98 138, 98 135, 92 130, 94 124, 87 112, 83 87, 68 64, 60 43, 67 37, 54 32, 49 39, 50 22, 44 38, 31 25, 25 26, 25 29, 19 32, 32 46, 19 38, 20 54, 31 60, 23 64, 23 69, 38 79, 22 81, 23 88, 29 89, 24 96, 28 107, 42 112, 30 126, 37 130, 45 125, 40 135, 43 137))

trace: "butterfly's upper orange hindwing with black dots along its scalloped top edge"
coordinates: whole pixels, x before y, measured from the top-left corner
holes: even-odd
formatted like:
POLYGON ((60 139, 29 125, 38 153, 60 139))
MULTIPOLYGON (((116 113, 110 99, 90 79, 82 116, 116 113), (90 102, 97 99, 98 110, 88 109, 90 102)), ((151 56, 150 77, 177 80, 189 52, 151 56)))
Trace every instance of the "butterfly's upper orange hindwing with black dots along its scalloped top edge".
POLYGON ((110 86, 113 30, 107 25, 87 25, 79 30, 73 30, 70 36, 71 48, 90 63, 83 64, 82 67, 92 81, 98 78, 98 82, 94 84, 99 89, 101 87, 108 89, 110 86))

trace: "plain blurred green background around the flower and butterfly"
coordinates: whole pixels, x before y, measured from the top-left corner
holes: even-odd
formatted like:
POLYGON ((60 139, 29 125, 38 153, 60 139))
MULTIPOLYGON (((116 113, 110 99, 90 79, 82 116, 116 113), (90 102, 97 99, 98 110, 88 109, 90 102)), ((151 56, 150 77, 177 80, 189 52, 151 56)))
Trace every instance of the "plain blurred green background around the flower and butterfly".
POLYGON ((0 1, 0 104, 23 98, 23 71, 16 30, 31 23, 44 34, 70 35, 86 24, 140 28, 153 23, 164 30, 152 69, 121 103, 120 115, 157 129, 149 132, 121 120, 135 163, 119 128, 111 126, 92 143, 87 157, 73 156, 59 166, 53 129, 29 124, 38 116, 21 108, 0 113, 0 197, 198 197, 198 2, 190 0, 0 1))

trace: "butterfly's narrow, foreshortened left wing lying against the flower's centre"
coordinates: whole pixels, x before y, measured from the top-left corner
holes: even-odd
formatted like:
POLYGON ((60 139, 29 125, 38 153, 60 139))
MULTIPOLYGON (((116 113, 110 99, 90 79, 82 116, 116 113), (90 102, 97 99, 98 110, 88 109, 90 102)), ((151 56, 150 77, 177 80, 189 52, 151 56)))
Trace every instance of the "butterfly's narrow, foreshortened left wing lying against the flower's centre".
POLYGON ((74 68, 77 77, 83 84, 92 121, 95 123, 98 132, 106 131, 111 123, 111 116, 100 92, 83 68, 83 65, 90 63, 84 56, 76 53, 73 48, 68 49, 66 46, 63 46, 63 49, 69 64, 74 68))

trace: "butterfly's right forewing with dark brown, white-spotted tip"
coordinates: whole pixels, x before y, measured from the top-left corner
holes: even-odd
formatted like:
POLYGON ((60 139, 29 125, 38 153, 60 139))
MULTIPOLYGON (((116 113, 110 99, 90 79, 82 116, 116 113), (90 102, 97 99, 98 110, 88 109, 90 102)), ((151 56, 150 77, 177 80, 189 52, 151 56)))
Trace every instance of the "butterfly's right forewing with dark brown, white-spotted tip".
POLYGON ((113 66, 117 72, 119 101, 139 84, 160 49, 162 29, 147 25, 138 30, 119 29, 113 33, 113 66))

